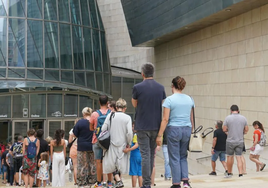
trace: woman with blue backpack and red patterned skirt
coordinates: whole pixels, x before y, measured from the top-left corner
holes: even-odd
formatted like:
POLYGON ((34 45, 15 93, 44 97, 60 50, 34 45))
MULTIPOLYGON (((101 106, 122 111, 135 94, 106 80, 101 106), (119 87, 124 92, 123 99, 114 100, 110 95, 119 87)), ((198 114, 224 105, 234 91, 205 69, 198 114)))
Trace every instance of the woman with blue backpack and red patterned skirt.
POLYGON ((40 149, 40 142, 35 137, 35 130, 30 129, 27 132, 28 137, 24 138, 23 141, 23 160, 22 160, 22 166, 23 166, 23 174, 24 174, 24 183, 25 187, 28 188, 28 185, 30 185, 30 188, 33 187, 34 177, 36 174, 36 156, 40 149), (30 145, 30 147, 28 147, 30 145), (29 151, 28 151, 29 150, 29 151), (31 150, 31 151, 30 151, 31 150), (30 155, 30 152, 35 151, 34 153, 31 153, 33 155, 30 155))

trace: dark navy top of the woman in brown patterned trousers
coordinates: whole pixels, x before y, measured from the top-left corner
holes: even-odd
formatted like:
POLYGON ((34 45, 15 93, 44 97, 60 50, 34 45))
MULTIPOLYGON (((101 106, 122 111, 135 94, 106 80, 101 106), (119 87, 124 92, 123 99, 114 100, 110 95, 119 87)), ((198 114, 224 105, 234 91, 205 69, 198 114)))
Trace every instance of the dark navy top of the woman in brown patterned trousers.
POLYGON ((77 137, 77 151, 92 151, 93 131, 89 130, 87 119, 80 119, 75 124, 73 133, 77 137))

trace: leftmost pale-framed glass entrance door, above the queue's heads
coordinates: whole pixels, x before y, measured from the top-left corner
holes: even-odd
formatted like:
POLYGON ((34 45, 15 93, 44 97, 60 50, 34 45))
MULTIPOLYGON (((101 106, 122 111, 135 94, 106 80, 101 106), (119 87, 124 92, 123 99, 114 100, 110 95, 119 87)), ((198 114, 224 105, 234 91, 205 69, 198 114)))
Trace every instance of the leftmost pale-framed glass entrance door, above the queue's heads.
POLYGON ((18 136, 21 135, 24 138, 27 137, 27 131, 29 130, 29 121, 27 120, 15 120, 12 122, 12 143, 17 141, 18 136))

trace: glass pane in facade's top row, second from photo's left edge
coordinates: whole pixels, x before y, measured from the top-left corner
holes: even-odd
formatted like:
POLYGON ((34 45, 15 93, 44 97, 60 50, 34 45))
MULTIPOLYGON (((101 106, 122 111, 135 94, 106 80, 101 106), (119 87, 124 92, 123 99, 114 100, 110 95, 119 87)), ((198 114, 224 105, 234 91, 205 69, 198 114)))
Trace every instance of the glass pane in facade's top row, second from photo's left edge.
POLYGON ((25 0, 9 0, 9 16, 25 17, 25 0))

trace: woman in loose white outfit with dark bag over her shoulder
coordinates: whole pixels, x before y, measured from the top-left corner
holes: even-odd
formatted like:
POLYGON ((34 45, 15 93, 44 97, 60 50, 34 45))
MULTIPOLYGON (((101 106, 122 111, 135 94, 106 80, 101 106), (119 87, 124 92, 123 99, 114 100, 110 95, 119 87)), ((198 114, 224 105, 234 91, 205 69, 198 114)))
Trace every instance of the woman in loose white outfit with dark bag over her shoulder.
POLYGON ((116 102, 116 112, 110 113, 101 130, 109 130, 111 144, 103 157, 103 173, 114 173, 115 187, 124 187, 119 174, 127 174, 129 170, 129 153, 124 153, 129 148, 133 138, 131 117, 125 114, 127 103, 124 99, 116 102))

